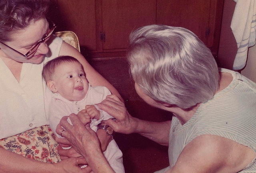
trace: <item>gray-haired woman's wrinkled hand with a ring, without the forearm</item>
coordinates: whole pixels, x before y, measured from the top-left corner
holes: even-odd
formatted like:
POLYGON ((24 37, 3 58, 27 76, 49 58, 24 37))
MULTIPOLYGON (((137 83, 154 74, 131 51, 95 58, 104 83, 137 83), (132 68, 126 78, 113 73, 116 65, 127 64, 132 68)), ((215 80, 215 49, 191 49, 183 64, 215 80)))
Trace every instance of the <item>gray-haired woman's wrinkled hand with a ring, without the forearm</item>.
POLYGON ((60 126, 63 129, 56 128, 57 134, 61 134, 66 138, 70 145, 76 150, 76 152, 82 154, 87 161, 87 158, 94 157, 95 154, 102 153, 100 149, 100 142, 96 133, 90 128, 90 124, 84 124, 79 120, 76 114, 70 114, 69 116, 73 125, 69 124, 68 116, 62 117, 60 120, 60 126))

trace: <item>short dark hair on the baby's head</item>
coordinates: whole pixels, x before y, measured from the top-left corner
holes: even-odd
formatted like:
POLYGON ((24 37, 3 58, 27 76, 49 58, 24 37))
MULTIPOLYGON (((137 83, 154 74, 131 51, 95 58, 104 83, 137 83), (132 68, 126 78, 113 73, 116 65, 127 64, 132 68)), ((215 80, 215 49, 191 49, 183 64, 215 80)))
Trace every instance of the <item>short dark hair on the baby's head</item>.
MULTIPOLYGON (((59 65, 63 64, 63 63, 79 63, 81 64, 77 59, 75 59, 74 57, 71 56, 60 56, 57 57, 55 59, 52 59, 51 61, 48 61, 43 68, 42 71, 42 76, 44 78, 44 81, 49 81, 52 80, 52 75, 54 74, 54 71, 56 69, 56 67, 58 67, 59 65)), ((82 64, 81 64, 82 66, 82 64)))

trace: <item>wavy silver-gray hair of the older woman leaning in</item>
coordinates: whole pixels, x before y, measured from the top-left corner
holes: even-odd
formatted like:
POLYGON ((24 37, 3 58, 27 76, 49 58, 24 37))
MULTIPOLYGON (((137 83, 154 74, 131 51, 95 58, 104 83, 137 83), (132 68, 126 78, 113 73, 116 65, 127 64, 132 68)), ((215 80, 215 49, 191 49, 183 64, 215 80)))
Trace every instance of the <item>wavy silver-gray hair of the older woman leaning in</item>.
POLYGON ((210 49, 185 28, 144 26, 130 34, 130 72, 142 91, 161 102, 190 108, 219 87, 210 49))

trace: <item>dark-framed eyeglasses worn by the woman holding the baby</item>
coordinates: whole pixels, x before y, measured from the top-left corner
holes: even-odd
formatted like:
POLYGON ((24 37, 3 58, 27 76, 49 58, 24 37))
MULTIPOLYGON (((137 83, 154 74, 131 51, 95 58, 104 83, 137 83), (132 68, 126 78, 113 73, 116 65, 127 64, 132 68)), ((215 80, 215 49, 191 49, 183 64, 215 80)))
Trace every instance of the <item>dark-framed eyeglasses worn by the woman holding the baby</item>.
POLYGON ((49 28, 50 28, 49 31, 44 34, 42 39, 40 41, 38 41, 25 55, 23 53, 20 53, 19 51, 16 51, 12 47, 10 47, 2 42, 0 42, 0 45, 2 45, 4 47, 4 49, 6 50, 6 51, 3 50, 5 53, 7 53, 7 54, 10 53, 10 51, 8 51, 7 49, 11 49, 12 51, 18 53, 19 57, 22 56, 23 58, 28 59, 30 57, 30 55, 33 55, 36 52, 36 50, 38 49, 38 47, 40 46, 41 43, 44 43, 46 40, 48 40, 48 38, 50 38, 54 29, 56 28, 56 25, 53 22, 49 22, 49 28))

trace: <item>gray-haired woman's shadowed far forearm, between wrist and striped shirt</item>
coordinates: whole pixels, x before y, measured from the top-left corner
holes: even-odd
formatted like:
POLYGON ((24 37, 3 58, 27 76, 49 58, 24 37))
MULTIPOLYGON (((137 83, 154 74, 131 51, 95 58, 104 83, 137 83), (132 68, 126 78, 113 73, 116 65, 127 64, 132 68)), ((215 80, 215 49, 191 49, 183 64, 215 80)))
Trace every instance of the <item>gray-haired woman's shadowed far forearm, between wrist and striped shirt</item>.
POLYGON ((134 133, 138 133, 158 144, 168 146, 171 121, 150 122, 134 118, 134 133))

